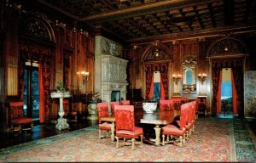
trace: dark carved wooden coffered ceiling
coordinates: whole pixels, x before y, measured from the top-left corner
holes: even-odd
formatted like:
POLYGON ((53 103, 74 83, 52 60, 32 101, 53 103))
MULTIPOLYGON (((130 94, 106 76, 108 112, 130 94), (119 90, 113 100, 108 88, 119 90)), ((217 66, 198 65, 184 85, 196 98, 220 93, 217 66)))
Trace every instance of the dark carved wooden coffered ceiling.
POLYGON ((125 42, 256 29, 255 0, 36 0, 125 42))

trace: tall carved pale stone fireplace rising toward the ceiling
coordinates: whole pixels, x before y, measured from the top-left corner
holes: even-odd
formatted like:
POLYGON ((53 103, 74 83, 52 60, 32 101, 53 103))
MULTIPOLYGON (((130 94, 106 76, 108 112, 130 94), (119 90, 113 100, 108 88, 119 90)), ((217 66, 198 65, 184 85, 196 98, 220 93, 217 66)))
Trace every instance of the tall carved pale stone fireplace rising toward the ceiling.
POLYGON ((119 100, 126 99, 128 60, 122 59, 123 47, 117 42, 101 36, 96 36, 95 42, 95 91, 102 102, 108 102, 111 111, 112 92, 119 92, 119 100))

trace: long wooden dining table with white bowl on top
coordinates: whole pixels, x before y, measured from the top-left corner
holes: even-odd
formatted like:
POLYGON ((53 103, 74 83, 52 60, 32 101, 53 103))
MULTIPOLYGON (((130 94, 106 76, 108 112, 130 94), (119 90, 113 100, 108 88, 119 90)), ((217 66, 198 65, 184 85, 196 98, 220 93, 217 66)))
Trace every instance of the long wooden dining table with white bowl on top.
MULTIPOLYGON (((160 145, 160 125, 167 125, 174 121, 177 115, 180 115, 180 110, 155 110, 154 113, 148 114, 143 108, 136 108, 134 110, 135 123, 154 124, 155 138, 149 138, 150 142, 155 145, 160 145)), ((102 121, 109 121, 111 123, 111 140, 114 141, 114 115, 108 115, 101 118, 102 121)))

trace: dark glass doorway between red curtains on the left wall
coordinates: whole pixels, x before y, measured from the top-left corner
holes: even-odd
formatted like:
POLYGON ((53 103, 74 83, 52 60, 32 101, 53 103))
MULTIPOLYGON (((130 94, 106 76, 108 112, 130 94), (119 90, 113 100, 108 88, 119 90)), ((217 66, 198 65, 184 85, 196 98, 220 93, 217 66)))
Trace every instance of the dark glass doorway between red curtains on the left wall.
POLYGON ((39 121, 39 81, 38 63, 26 61, 24 69, 24 114, 39 121))

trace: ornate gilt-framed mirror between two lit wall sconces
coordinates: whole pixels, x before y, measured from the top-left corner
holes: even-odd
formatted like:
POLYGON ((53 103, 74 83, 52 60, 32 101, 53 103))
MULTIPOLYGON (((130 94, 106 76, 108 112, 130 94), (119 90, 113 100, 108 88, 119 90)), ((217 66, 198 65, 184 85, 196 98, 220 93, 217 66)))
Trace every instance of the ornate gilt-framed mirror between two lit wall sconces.
POLYGON ((197 65, 195 59, 185 59, 181 64, 183 67, 183 92, 193 93, 196 91, 195 67, 197 65))

